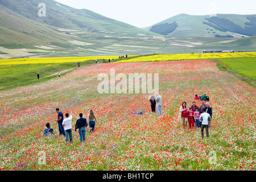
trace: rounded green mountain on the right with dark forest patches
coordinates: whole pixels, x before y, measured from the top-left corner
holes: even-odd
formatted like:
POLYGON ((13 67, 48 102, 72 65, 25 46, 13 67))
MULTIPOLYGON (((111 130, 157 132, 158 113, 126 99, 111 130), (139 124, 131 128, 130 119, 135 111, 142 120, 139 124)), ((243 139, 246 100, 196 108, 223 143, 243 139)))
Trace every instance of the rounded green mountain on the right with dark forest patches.
POLYGON ((170 31, 167 36, 233 36, 236 38, 243 35, 256 35, 256 15, 217 14, 217 16, 209 16, 180 14, 156 23, 153 26, 146 27, 146 29, 162 34, 161 31, 154 30, 157 30, 158 27, 164 27, 164 32, 168 32, 168 27, 165 25, 172 23, 176 24, 176 28, 169 28, 170 31))

